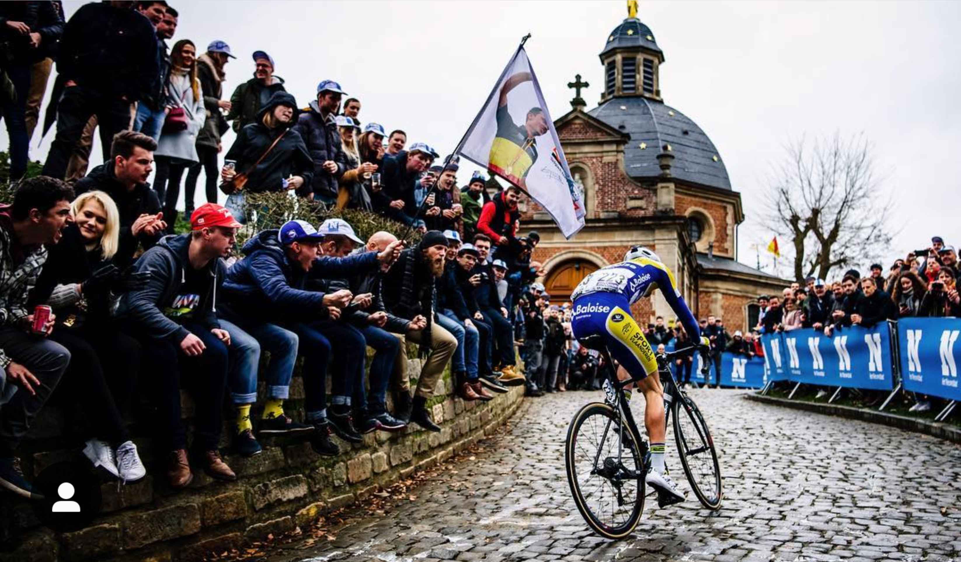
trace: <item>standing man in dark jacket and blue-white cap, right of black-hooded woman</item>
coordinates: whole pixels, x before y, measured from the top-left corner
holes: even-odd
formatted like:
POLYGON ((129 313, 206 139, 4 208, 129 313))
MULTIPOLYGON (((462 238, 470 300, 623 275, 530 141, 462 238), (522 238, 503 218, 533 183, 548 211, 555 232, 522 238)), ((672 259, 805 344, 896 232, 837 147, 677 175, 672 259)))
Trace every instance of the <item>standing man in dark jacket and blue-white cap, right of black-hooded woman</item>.
POLYGON ((297 120, 297 130, 313 159, 313 198, 325 205, 336 202, 338 180, 347 171, 347 155, 335 119, 345 93, 333 80, 322 81, 317 85, 317 99, 297 120))

